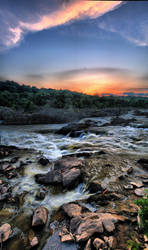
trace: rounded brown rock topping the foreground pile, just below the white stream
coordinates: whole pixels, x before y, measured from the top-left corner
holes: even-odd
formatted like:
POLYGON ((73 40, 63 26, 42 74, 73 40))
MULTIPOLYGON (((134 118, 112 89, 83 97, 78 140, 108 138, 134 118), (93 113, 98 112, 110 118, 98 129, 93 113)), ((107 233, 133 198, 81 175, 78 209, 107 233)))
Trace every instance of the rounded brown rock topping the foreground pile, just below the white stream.
POLYGON ((65 204, 62 209, 70 218, 80 216, 82 212, 82 207, 75 203, 65 204))

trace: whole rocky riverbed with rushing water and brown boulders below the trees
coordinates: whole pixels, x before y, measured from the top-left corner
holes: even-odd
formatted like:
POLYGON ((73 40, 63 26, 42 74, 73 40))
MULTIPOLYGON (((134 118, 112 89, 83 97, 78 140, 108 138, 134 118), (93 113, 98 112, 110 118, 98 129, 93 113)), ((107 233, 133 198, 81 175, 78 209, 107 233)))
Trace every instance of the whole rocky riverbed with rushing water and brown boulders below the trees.
POLYGON ((74 124, 0 127, 0 242, 20 249, 139 249, 148 188, 143 110, 74 124))

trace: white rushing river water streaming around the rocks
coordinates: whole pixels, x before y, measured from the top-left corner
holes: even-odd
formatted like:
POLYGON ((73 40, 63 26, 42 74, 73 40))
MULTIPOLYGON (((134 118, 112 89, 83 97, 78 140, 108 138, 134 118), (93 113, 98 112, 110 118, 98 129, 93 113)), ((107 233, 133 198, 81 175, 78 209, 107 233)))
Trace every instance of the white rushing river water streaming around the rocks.
MULTIPOLYGON (((30 215, 30 211, 38 205, 43 205, 52 212, 64 203, 88 197, 89 194, 84 191, 83 184, 80 184, 72 191, 59 191, 57 188, 43 187, 35 182, 35 174, 48 172, 50 166, 52 166, 52 162, 60 159, 64 155, 106 150, 112 153, 124 152, 125 154, 146 156, 148 154, 148 118, 144 116, 135 117, 132 112, 123 115, 122 118, 136 118, 136 122, 130 123, 130 125, 126 127, 103 126, 103 124, 110 122, 111 117, 91 118, 96 122, 95 127, 97 127, 97 133, 82 133, 76 138, 55 133, 55 131, 66 124, 1 125, 0 143, 2 145, 13 145, 21 148, 22 151, 18 153, 20 160, 24 161, 28 159, 31 163, 25 166, 23 172, 19 174, 19 177, 10 180, 10 184, 13 187, 12 195, 22 196, 19 210, 16 211, 14 208, 6 207, 1 210, 0 219, 2 219, 3 222, 8 222, 9 215, 13 214, 16 220, 14 225, 20 228, 20 217, 17 217, 17 213, 21 214, 21 218, 23 218, 22 213, 25 213, 25 216, 27 216, 27 214, 30 215), (26 151, 24 149, 28 150, 26 151), (50 160, 48 166, 41 166, 37 163, 37 159, 41 156, 50 160), (39 189, 44 189, 46 192, 45 199, 42 201, 36 199, 36 194, 39 189), (6 215, 6 217, 4 215, 6 215)), ((85 119, 80 122, 84 122, 84 120, 85 119)), ((11 221, 12 216, 10 217, 11 221)))

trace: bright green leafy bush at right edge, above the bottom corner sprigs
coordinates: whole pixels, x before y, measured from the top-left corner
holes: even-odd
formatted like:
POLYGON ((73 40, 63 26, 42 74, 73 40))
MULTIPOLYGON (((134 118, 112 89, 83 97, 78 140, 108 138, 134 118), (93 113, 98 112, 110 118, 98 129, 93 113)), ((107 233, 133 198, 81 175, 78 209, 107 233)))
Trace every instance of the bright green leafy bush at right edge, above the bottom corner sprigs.
POLYGON ((140 227, 144 230, 144 234, 148 236, 148 190, 146 197, 135 201, 135 204, 140 206, 138 214, 141 219, 140 227))

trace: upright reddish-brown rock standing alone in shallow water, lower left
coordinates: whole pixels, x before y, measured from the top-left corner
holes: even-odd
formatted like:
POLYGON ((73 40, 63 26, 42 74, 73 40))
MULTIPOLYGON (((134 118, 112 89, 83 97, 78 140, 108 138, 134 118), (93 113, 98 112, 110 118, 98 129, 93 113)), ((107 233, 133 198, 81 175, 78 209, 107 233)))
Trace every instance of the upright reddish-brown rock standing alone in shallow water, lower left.
POLYGON ((32 219, 32 226, 43 226, 47 222, 48 211, 45 207, 35 209, 32 219))

